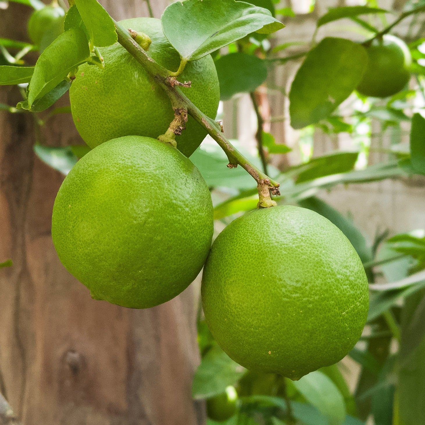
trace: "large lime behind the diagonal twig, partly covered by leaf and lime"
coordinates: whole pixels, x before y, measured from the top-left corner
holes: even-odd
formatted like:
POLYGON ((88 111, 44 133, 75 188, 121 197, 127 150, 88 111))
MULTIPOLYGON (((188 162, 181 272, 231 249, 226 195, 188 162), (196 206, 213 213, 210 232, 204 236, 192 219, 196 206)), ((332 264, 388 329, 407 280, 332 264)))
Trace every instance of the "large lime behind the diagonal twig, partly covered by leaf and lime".
MULTIPOLYGON (((152 40, 149 56, 164 68, 177 71, 180 57, 165 38, 159 19, 128 19, 121 24, 147 34, 152 40)), ((69 90, 75 126, 85 142, 96 147, 120 136, 156 138, 164 134, 174 113, 161 87, 118 43, 99 50, 105 69, 81 65, 69 90)), ((178 79, 192 82, 191 88, 181 90, 202 112, 215 118, 220 89, 211 56, 188 62, 178 79)), ((206 135, 204 128, 189 117, 186 130, 177 136, 177 147, 190 156, 206 135)))

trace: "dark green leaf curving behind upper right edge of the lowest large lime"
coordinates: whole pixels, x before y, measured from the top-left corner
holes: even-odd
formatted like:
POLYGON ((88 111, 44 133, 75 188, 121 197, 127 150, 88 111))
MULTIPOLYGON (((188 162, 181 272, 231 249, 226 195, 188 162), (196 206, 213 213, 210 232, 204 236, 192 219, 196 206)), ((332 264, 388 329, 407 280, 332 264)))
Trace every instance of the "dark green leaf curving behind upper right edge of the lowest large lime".
POLYGON ((354 249, 357 251, 360 259, 363 263, 371 261, 372 251, 370 246, 366 244, 366 240, 362 233, 357 227, 354 226, 354 223, 344 215, 342 215, 338 210, 331 207, 325 201, 316 196, 311 198, 306 198, 298 201, 300 207, 308 208, 313 210, 323 217, 326 217, 331 221, 335 226, 337 226, 343 233, 346 235, 348 240, 354 246, 354 249))

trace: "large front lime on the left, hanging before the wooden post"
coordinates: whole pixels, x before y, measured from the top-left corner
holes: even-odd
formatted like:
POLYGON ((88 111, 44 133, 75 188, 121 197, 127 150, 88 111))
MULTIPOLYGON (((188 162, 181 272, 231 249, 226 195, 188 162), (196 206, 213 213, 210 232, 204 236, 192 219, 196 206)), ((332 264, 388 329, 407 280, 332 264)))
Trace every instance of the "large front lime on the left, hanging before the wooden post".
POLYGON ((132 308, 171 300, 210 249, 212 201, 192 162, 142 136, 113 139, 80 159, 59 189, 52 238, 92 297, 132 308))

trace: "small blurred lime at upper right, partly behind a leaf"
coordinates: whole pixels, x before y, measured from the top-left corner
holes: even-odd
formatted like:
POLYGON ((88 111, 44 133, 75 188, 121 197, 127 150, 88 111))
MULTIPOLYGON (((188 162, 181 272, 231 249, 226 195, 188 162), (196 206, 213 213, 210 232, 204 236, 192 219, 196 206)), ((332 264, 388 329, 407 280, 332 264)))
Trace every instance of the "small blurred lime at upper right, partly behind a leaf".
POLYGON ((412 57, 408 46, 394 35, 385 34, 366 47, 368 66, 357 90, 365 96, 388 97, 409 82, 412 57))

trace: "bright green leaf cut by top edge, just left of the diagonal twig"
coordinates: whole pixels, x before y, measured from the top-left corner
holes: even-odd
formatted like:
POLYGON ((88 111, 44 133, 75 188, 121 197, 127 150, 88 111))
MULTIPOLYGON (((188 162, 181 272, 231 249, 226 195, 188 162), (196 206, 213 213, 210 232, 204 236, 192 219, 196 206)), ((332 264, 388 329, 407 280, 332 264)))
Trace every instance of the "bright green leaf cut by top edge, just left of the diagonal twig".
POLYGON ((75 0, 75 5, 87 28, 91 45, 103 47, 116 43, 115 24, 97 0, 75 0))

